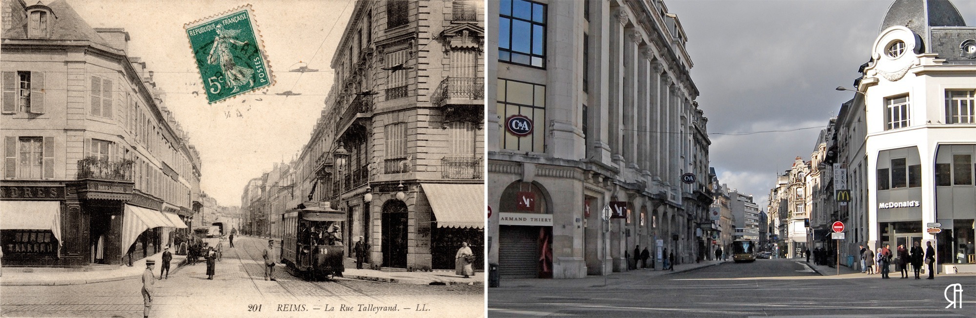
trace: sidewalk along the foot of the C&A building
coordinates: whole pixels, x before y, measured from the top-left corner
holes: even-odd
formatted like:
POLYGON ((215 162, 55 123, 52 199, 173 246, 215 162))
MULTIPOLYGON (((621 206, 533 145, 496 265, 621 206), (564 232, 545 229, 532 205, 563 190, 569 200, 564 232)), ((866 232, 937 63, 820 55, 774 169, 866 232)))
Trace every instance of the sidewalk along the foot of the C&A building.
POLYGON ((732 260, 702 260, 674 265, 674 271, 651 268, 632 269, 626 272, 614 272, 609 275, 590 275, 577 279, 547 279, 547 278, 503 278, 501 287, 531 287, 531 288, 595 288, 607 287, 622 282, 632 282, 634 278, 663 276, 697 270, 709 266, 719 265, 732 260))

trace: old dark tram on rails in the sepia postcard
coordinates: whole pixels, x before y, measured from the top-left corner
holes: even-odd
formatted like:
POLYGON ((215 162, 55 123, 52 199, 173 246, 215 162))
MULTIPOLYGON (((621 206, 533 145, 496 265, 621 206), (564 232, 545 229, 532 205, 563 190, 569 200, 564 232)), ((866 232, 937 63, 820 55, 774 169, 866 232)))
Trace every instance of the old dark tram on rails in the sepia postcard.
POLYGON ((343 276, 346 213, 333 210, 328 202, 307 203, 299 208, 283 217, 281 261, 305 279, 343 276))

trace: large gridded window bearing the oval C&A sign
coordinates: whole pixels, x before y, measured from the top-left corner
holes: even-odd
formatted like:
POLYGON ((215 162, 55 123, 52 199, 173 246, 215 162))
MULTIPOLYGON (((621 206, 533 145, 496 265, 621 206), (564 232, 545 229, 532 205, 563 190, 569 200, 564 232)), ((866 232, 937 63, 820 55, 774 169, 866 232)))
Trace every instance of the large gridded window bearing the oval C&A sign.
POLYGON ((503 149, 545 152, 546 87, 506 79, 498 80, 498 114, 502 121, 513 115, 528 117, 533 130, 526 136, 516 136, 507 129, 501 131, 503 149))

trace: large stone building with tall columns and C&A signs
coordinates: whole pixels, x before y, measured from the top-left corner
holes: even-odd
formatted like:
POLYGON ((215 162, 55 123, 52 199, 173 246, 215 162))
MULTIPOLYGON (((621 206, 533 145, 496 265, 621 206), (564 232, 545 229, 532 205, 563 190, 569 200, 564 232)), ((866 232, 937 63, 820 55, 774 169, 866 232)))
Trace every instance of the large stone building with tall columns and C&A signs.
POLYGON ((659 269, 665 249, 704 258, 708 121, 664 2, 490 1, 488 17, 487 243, 502 281, 627 271, 638 245, 659 269))

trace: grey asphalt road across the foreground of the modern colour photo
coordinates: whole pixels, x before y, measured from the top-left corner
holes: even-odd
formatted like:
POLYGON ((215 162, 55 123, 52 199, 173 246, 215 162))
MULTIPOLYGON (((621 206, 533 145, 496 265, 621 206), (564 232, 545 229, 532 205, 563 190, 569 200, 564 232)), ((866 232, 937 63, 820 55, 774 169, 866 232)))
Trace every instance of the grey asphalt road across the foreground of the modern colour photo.
POLYGON ((488 290, 488 315, 976 317, 976 276, 891 276, 827 277, 796 259, 757 259, 676 274, 638 270, 581 280, 518 280, 488 290), (946 308, 943 293, 953 283, 962 285, 962 308, 946 308))

